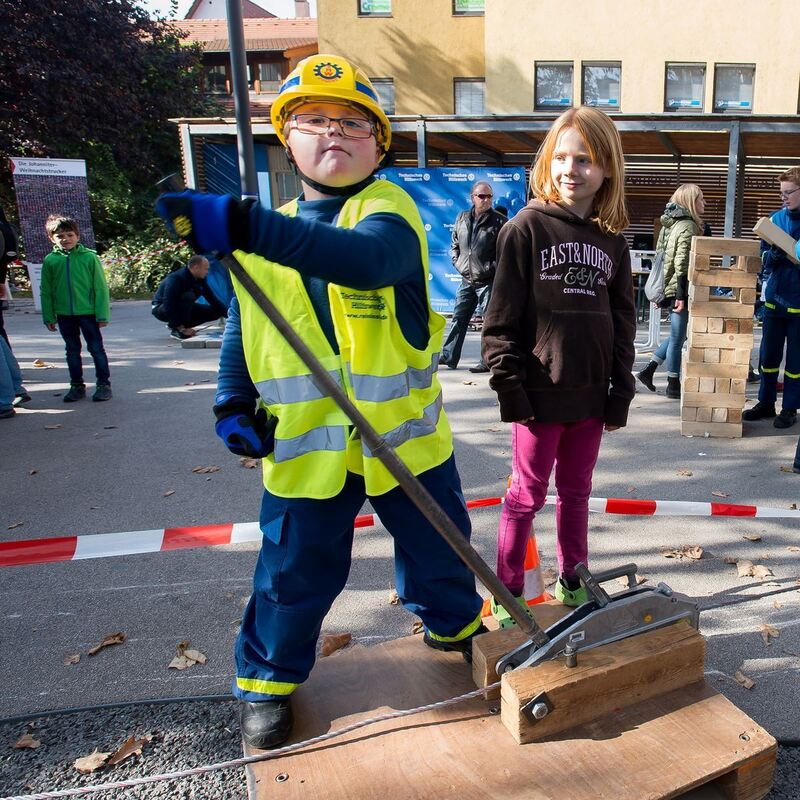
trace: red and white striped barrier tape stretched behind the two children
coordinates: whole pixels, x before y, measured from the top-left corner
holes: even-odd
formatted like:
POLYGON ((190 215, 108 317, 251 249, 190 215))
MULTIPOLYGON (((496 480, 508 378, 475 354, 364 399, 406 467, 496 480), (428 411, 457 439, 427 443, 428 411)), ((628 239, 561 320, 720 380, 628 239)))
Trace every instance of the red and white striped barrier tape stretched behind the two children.
MULTIPOLYGON (((555 499, 555 495, 548 495, 547 503, 552 504, 555 499)), ((486 497, 468 500, 467 507, 483 508, 497 506, 502 502, 502 497, 486 497)), ((788 508, 743 506, 734 503, 694 503, 680 500, 634 500, 624 497, 592 497, 589 499, 589 510, 601 514, 631 516, 757 517, 800 520, 800 510, 788 508)), ((356 528, 368 528, 379 524, 377 514, 362 514, 356 517, 355 521, 356 528)), ((21 567, 53 561, 80 561, 87 558, 159 553, 190 547, 260 541, 261 530, 257 522, 27 539, 19 542, 0 542, 0 567, 21 567)))

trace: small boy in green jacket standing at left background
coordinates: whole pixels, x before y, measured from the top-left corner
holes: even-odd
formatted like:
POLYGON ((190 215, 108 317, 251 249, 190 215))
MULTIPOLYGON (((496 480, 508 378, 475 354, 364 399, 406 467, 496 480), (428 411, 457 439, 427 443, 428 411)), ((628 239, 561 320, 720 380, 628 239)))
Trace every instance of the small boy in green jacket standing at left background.
POLYGON ((66 344, 69 391, 65 403, 86 397, 81 361, 81 334, 94 359, 97 389, 92 400, 111 399, 108 357, 100 328, 108 325, 108 284, 94 250, 78 243, 78 223, 70 217, 51 214, 45 222, 53 252, 42 265, 42 318, 48 330, 58 327, 66 344))

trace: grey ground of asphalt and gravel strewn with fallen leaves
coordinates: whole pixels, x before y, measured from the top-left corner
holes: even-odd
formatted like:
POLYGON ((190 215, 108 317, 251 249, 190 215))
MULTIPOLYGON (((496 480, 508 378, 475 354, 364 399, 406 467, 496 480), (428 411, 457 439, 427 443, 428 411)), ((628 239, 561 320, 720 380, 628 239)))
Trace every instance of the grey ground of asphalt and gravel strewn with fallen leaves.
MULTIPOLYGON (((257 519, 258 470, 243 467, 213 434, 218 350, 184 349, 149 314, 147 302, 118 302, 104 330, 114 399, 65 405, 63 342, 42 326, 30 300, 6 312, 6 329, 33 400, 0 420, 0 541, 257 519), (45 366, 36 367, 42 362, 45 366), (198 473, 195 467, 217 466, 198 473)), ((646 331, 641 332, 644 339, 646 331)), ((461 368, 443 370, 445 404, 468 499, 502 494, 509 431, 499 422, 486 375, 474 375, 479 335, 470 333, 461 368)), ((88 356, 84 353, 85 362, 88 356)), ((645 363, 645 356, 638 366, 645 363)), ((90 359, 87 383, 91 381, 90 359)), ((640 388, 626 429, 606 434, 593 496, 729 502, 788 509, 800 501, 791 472, 800 425, 779 431, 746 424, 742 439, 679 434, 678 404, 640 388)), ((756 387, 748 387, 754 396, 756 387)), ((498 509, 473 513, 473 543, 494 561, 498 509)), ((555 567, 554 515, 536 523, 544 568, 555 567)), ((800 525, 736 517, 590 518, 591 566, 635 561, 655 584, 696 597, 707 639, 709 682, 779 740, 800 740, 800 525), (667 558, 687 546, 702 558, 667 558), (741 578, 736 560, 772 575, 741 578), (777 635, 776 635, 777 634, 777 635), (734 675, 753 681, 746 689, 734 675)), ((246 602, 256 545, 198 548, 106 559, 0 568, 0 717, 186 696, 224 695, 231 650, 246 602), (123 644, 88 651, 112 633, 123 644), (178 671, 167 665, 181 642, 207 656, 178 671), (74 656, 79 655, 77 663, 74 656), (73 657, 73 658, 70 658, 73 657)), ((345 592, 324 632, 369 645, 408 635, 413 618, 390 604, 392 547, 379 528, 357 532, 345 592)), ((0 794, 171 771, 241 754, 230 702, 97 710, 0 721, 0 794), (41 735, 36 749, 11 745, 41 735), (72 762, 128 736, 154 738, 113 771, 78 776, 72 762)), ((796 797, 797 750, 782 747, 772 798, 796 797)), ((119 793, 97 795, 119 797, 119 793)), ((241 770, 136 789, 125 796, 245 797, 241 770)))

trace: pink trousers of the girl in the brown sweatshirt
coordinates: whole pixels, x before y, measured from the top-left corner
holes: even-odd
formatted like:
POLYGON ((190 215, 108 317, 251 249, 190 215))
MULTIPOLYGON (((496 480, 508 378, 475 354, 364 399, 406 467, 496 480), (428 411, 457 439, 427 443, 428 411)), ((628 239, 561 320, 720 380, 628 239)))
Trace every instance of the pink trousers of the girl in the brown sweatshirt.
POLYGON ((522 593, 525 546, 536 512, 542 508, 556 467, 556 554, 561 575, 574 577, 587 563, 589 495, 603 420, 532 422, 511 426, 512 474, 497 532, 497 575, 516 595, 522 593))

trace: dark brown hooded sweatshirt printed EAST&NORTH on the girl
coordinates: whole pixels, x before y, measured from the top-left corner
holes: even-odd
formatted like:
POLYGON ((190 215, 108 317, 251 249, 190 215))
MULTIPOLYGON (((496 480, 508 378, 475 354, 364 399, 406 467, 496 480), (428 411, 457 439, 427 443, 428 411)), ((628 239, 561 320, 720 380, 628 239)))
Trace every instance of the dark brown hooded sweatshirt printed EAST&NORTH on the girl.
POLYGON ((625 425, 635 336, 622 234, 539 200, 506 223, 482 345, 505 422, 625 425))

